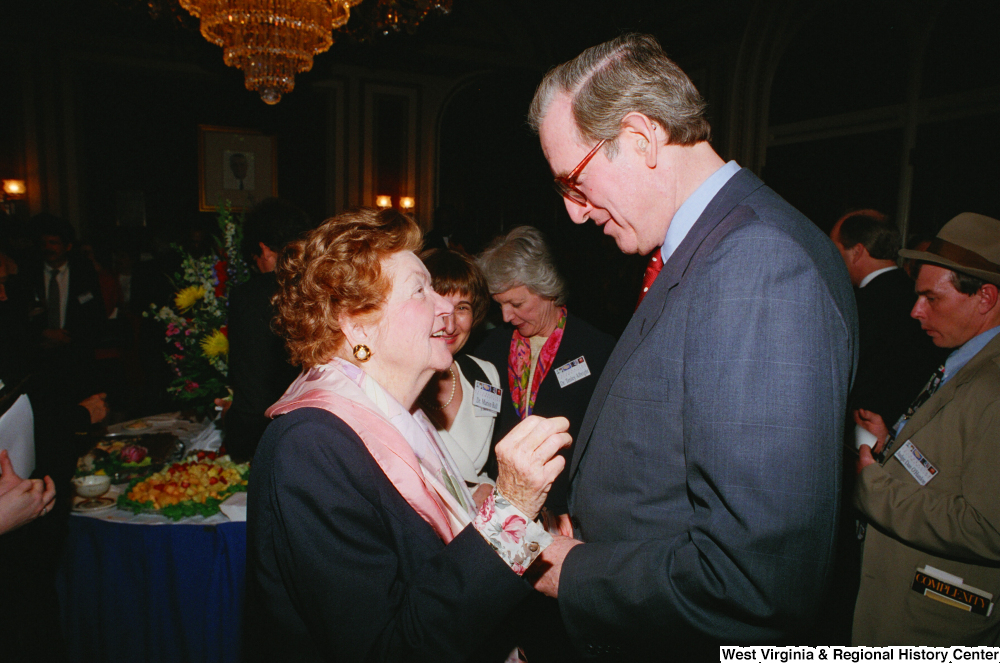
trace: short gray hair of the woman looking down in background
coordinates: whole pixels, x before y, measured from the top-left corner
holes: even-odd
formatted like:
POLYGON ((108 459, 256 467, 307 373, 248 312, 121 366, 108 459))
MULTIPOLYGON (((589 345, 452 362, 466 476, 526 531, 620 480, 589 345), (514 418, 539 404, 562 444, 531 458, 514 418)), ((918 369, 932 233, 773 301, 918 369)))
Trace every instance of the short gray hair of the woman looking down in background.
POLYGON ((536 295, 566 303, 566 281, 556 269, 545 235, 531 226, 518 226, 497 237, 476 259, 486 275, 490 294, 523 285, 536 295))

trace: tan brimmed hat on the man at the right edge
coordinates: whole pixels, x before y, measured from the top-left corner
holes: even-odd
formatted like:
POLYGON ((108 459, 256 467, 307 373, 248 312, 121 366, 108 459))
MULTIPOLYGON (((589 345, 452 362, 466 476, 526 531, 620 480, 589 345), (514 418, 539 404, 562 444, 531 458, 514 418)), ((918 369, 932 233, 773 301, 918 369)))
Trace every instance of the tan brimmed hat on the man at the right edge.
POLYGON ((1000 285, 1000 221, 971 212, 959 214, 944 224, 926 251, 903 249, 899 255, 1000 285))

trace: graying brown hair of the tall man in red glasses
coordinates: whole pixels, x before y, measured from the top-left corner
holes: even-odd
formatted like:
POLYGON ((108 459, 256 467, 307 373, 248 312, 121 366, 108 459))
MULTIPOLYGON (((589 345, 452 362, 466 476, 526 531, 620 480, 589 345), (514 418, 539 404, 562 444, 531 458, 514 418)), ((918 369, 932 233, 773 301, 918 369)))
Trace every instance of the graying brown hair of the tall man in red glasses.
POLYGON ((632 112, 660 124, 669 144, 711 139, 704 99, 651 35, 622 35, 549 71, 528 112, 528 124, 536 133, 559 93, 572 97, 580 135, 589 143, 607 141, 609 157, 617 153, 622 120, 632 112))

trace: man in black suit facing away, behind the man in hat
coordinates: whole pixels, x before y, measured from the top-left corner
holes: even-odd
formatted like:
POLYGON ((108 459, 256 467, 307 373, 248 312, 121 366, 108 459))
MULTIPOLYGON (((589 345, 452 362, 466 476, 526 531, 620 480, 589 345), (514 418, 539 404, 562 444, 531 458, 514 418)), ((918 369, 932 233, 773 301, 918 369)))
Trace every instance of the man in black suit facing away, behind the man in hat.
POLYGON ((875 210, 857 210, 830 231, 854 285, 858 303, 858 374, 850 409, 895 422, 948 356, 910 317, 913 281, 896 266, 900 235, 875 210))

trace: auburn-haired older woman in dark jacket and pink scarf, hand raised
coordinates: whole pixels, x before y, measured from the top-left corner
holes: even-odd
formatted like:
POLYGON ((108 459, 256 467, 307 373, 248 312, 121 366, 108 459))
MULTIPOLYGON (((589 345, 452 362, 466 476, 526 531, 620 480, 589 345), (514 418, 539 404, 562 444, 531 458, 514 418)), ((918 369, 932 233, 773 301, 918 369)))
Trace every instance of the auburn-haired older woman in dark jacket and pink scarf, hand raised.
POLYGON ((282 254, 276 326, 302 374, 269 410, 247 506, 252 660, 504 660, 521 577, 551 541, 534 522, 569 443, 533 417, 497 448, 477 505, 410 409, 452 357, 452 305, 393 210, 324 222, 282 254))

